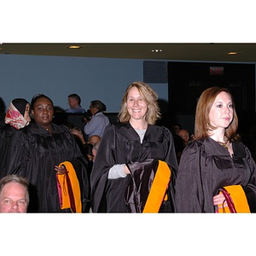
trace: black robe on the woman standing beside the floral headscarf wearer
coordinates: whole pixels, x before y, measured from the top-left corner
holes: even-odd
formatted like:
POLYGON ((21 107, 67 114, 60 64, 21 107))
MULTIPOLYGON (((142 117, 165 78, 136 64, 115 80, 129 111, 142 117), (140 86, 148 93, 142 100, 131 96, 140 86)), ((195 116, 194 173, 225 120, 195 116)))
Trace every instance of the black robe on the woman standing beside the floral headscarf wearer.
POLYGON ((55 176, 55 166, 70 161, 79 178, 82 207, 86 211, 90 201, 87 160, 66 126, 52 124, 51 131, 34 122, 17 131, 10 146, 7 171, 28 179, 28 212, 70 212, 61 210, 55 176))

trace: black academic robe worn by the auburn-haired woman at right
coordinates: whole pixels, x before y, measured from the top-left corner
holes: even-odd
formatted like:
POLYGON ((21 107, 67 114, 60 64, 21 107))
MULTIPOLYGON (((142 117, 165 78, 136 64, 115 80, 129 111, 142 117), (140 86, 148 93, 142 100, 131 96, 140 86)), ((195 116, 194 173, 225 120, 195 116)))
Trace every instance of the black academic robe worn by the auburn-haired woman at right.
POLYGON ((232 143, 234 154, 207 137, 187 145, 179 163, 175 186, 177 212, 215 212, 212 198, 224 186, 241 185, 256 206, 256 170, 248 148, 232 143))

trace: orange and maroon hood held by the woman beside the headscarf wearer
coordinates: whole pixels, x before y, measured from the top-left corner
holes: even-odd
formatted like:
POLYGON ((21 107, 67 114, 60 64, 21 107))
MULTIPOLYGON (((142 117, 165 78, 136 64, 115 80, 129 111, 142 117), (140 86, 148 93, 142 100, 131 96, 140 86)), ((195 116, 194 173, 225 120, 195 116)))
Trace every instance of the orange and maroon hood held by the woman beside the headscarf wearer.
POLYGON ((70 162, 62 162, 59 167, 62 165, 66 167, 67 173, 56 175, 58 184, 61 187, 61 191, 59 190, 59 193, 61 193, 61 209, 70 208, 72 212, 82 212, 80 185, 77 174, 70 162))

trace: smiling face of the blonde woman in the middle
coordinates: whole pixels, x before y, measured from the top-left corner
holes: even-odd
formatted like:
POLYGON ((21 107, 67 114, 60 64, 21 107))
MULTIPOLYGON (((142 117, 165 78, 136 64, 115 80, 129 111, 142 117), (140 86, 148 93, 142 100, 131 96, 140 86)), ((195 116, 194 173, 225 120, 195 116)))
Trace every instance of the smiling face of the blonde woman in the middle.
POLYGON ((131 87, 128 92, 126 108, 131 116, 131 120, 145 120, 148 104, 136 87, 131 87))

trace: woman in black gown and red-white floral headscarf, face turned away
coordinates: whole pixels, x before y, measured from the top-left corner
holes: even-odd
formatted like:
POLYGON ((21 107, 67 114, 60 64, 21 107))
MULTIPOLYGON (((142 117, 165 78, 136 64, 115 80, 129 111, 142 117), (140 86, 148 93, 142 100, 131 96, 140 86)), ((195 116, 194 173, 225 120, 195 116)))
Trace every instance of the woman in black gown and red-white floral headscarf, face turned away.
POLYGON ((5 125, 0 129, 0 178, 7 174, 6 160, 15 132, 29 125, 31 121, 29 108, 29 102, 23 98, 15 98, 9 104, 4 118, 5 125))

